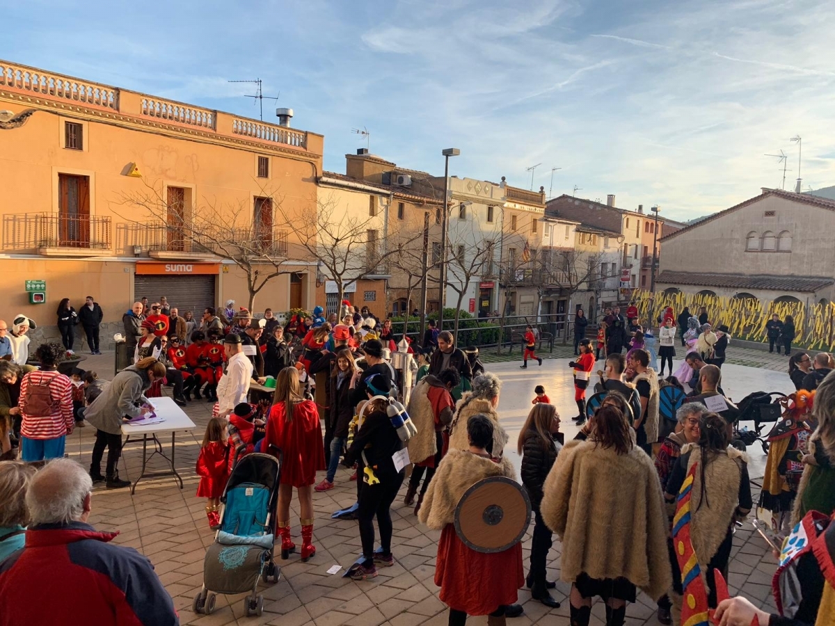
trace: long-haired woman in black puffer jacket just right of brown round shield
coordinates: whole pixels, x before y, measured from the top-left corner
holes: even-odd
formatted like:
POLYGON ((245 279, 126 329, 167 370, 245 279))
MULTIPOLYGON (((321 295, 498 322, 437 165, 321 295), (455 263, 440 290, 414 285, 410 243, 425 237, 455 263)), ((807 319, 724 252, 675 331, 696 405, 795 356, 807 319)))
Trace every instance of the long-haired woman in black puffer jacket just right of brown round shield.
POLYGON ((530 573, 527 583, 531 598, 550 608, 559 607, 559 602, 548 593, 549 583, 545 579, 545 563, 548 551, 553 545, 553 533, 542 519, 539 504, 542 502, 545 478, 548 477, 559 451, 562 450, 562 446, 554 441, 557 432, 557 408, 553 404, 539 402, 530 410, 528 419, 519 432, 519 441, 516 442, 516 451, 522 455, 522 484, 528 490, 530 504, 536 514, 534 536, 530 544, 530 573))

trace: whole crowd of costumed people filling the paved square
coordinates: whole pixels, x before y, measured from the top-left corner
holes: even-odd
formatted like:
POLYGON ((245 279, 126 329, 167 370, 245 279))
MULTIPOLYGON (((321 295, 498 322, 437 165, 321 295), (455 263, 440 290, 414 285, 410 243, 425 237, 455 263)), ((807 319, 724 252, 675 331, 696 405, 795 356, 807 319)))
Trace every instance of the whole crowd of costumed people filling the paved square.
MULTIPOLYGON (((97 305, 88 300, 83 308, 92 311, 97 305)), ((83 323, 73 320, 89 315, 75 313, 68 300, 58 314, 69 331, 83 323)), ((33 550, 40 545, 36 542, 53 552, 67 549, 79 555, 106 546, 108 539, 99 537, 104 533, 86 524, 89 492, 96 482, 109 488, 130 484, 118 472, 120 428, 125 418, 149 411, 147 396, 159 395, 159 386, 168 385, 180 405, 200 398, 212 403, 195 467, 200 476, 197 496, 206 499, 212 528, 219 524, 220 495, 235 462, 250 452, 280 455, 275 531, 281 558, 296 552, 290 520, 294 491, 300 510, 300 558, 315 558, 312 493, 334 488, 342 464, 357 482, 357 504, 347 512, 357 519, 362 544, 362 557, 349 575, 362 581, 395 562, 391 507, 406 482, 404 503, 414 507, 420 522, 441 532, 435 583, 450 609, 450 624, 460 626, 468 615, 487 615, 495 626, 519 615, 523 608, 517 603, 518 589, 523 585, 545 606, 559 607, 550 592, 555 583, 546 577, 554 533, 561 543, 560 576, 571 583, 569 612, 575 626, 590 623, 596 597, 605 603, 607 624, 624 624, 626 606, 635 602, 639 589, 657 601, 659 621, 672 623, 683 612, 692 614, 693 603, 686 598, 698 596, 692 595, 693 584, 705 585, 703 608, 716 608, 722 623, 742 624, 745 616, 757 614, 761 624, 800 626, 811 624, 808 616, 817 613, 817 606, 807 601, 802 613, 806 621, 780 621, 784 618, 758 612, 745 598, 723 599, 718 593, 720 575, 728 575, 733 530, 754 502, 748 458, 734 442, 740 410, 721 389, 721 366, 731 337, 726 326, 712 329, 705 310, 698 316, 685 310, 677 319, 665 310, 657 328, 641 325, 633 307, 625 316, 619 307, 606 310, 596 351, 584 336, 584 315, 578 311, 576 356, 569 367, 579 433, 574 441, 564 441, 559 413, 544 386, 537 385, 533 406, 514 442, 522 457, 521 483, 534 513, 527 575, 520 543, 483 553, 464 543, 455 529, 455 509, 473 483, 484 477, 518 478, 498 411, 502 383, 484 370, 473 346, 461 350, 452 333, 438 331, 431 321, 423 346, 412 346, 407 336, 395 335, 391 321, 381 322, 366 307, 356 310, 348 301, 327 318, 317 306, 310 316, 293 315, 282 325, 269 309, 256 320, 232 301, 220 311, 207 307, 198 321, 191 311, 180 317, 176 307, 160 298, 135 302, 123 321, 133 364, 109 383, 99 381, 94 372, 78 372, 78 381, 58 373, 63 352, 71 349, 66 341, 63 346, 38 346, 33 355, 38 369, 0 361, 4 458, 15 458, 19 449, 26 462, 52 459, 34 475, 30 465, 0 464, 0 502, 10 503, 0 514, 0 599, 23 593, 21 585, 28 584, 33 563, 41 558, 33 550), (676 322, 686 355, 673 372, 676 322), (600 351, 605 351, 605 369, 598 371, 600 382, 593 384, 600 351), (402 356, 397 367, 395 352, 402 356), (664 377, 666 366, 670 373, 664 377), (666 429, 660 423, 660 391, 665 386, 687 396, 676 412, 675 427, 666 429), (254 401, 252 389, 274 391, 270 400, 254 401), (595 411, 586 406, 590 390, 605 394, 595 411), (87 471, 63 459, 66 436, 84 421, 96 429, 87 471), (408 477, 396 462, 403 448, 412 463, 408 477), (326 472, 318 483, 316 472, 326 472), (45 515, 38 498, 58 488, 53 484, 58 482, 68 508, 53 518, 57 509, 45 515), (685 535, 680 534, 682 524, 685 535), (79 531, 87 542, 82 552, 68 548, 78 541, 79 531), (380 548, 375 550, 377 535, 380 548), (696 560, 683 561, 686 551, 696 560), (705 573, 703 583, 694 583, 689 575, 693 563, 705 573)), ((16 318, 18 336, 21 324, 34 326, 16 318)), ((0 350, 8 332, 3 326, 0 322, 0 350)), ((781 333, 786 326, 783 321, 781 333)), ((533 330, 527 329, 523 367, 529 360, 541 365, 533 330)), ((97 351, 97 340, 88 337, 91 350, 97 351)), ((782 341, 788 351, 790 344, 782 341)), ((815 511, 827 520, 835 510, 832 365, 828 355, 791 356, 790 376, 798 395, 785 408, 794 411, 792 423, 815 425, 813 432, 808 428, 807 437, 800 436, 805 426, 792 431, 792 451, 810 444, 802 447, 802 480, 792 493, 792 502, 797 502, 793 523, 815 511), (802 404, 800 394, 809 391, 816 393, 813 405, 807 400, 802 404)), ((787 469, 781 465, 774 473, 782 477, 787 469)), ((823 538, 823 528, 817 534, 823 538)), ((144 594, 149 603, 161 594, 153 606, 131 606, 135 621, 175 623, 170 598, 153 571, 148 572, 147 559, 119 552, 123 549, 127 550, 107 553, 114 565, 102 575, 114 578, 119 588, 141 585, 141 593, 136 593, 144 594)), ((817 563, 807 563, 812 571, 817 567, 817 578, 802 583, 825 588, 832 581, 827 583, 828 570, 817 563)), ((103 596, 90 607, 78 608, 78 614, 95 621, 99 611, 116 603, 118 597, 103 596)))

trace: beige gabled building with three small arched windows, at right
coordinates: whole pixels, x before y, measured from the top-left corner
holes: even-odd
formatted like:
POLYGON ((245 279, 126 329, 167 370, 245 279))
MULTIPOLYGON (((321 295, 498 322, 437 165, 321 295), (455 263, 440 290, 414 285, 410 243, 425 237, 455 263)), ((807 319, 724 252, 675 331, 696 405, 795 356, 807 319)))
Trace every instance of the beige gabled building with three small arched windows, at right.
POLYGON ((665 236, 657 290, 757 300, 835 297, 835 200, 779 189, 665 236))

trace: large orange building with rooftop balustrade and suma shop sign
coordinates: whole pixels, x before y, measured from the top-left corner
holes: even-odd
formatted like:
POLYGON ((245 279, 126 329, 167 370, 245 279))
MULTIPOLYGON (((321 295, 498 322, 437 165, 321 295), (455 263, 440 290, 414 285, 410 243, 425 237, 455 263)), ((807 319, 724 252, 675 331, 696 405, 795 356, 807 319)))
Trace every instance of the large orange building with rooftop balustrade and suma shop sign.
POLYGON ((78 309, 85 295, 102 305, 104 331, 143 295, 196 316, 225 300, 245 306, 247 273, 229 240, 272 261, 261 276, 281 266, 256 310, 311 307, 316 262, 274 212, 316 210, 323 137, 289 119, 268 124, 0 61, 0 318, 23 313, 48 329, 59 300, 78 309), (30 304, 26 280, 46 281, 43 305, 30 304))

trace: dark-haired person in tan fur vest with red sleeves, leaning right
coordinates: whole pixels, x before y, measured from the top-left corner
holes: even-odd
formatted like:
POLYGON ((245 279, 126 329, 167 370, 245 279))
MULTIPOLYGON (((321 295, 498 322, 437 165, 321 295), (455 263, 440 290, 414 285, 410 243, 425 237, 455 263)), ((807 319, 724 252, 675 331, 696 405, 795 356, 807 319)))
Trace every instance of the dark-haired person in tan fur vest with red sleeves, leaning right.
POLYGON ((426 480, 423 481, 420 493, 417 496, 415 515, 420 511, 423 497, 429 487, 429 482, 435 475, 435 468, 441 462, 443 452, 443 435, 441 432, 449 422, 453 421, 455 401, 450 391, 461 382, 458 371, 448 367, 438 376, 426 376, 417 383, 412 397, 409 398, 407 413, 412 418, 412 423, 417 428, 417 434, 409 439, 409 458, 414 464, 412 476, 409 477, 409 486, 406 490, 406 497, 403 502, 407 507, 414 504, 414 497, 417 488, 421 487, 420 480, 423 472, 426 472, 426 480))

